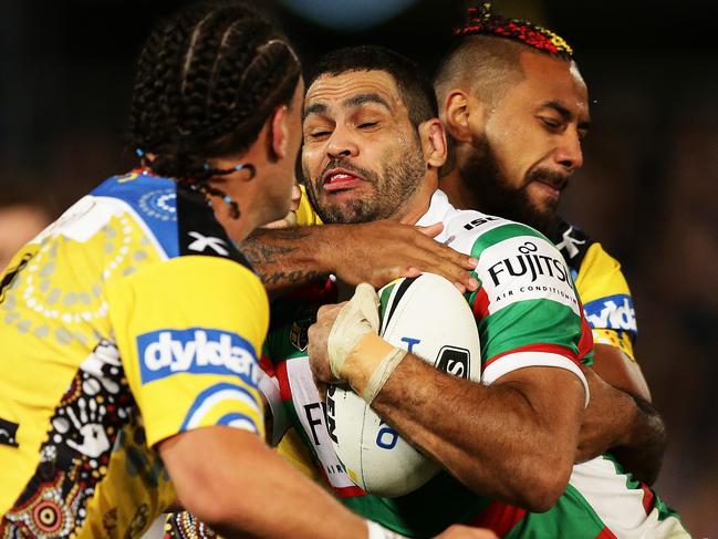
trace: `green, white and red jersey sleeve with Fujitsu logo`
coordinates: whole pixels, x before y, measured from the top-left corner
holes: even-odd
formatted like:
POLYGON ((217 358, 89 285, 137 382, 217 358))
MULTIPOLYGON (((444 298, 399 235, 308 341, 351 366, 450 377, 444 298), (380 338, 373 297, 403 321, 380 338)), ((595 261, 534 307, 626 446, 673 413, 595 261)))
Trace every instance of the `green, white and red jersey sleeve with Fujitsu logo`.
POLYGON ((593 348, 565 261, 542 235, 507 224, 481 235, 480 288, 469 297, 481 340, 482 382, 527 366, 553 366, 589 386, 580 364, 593 348))

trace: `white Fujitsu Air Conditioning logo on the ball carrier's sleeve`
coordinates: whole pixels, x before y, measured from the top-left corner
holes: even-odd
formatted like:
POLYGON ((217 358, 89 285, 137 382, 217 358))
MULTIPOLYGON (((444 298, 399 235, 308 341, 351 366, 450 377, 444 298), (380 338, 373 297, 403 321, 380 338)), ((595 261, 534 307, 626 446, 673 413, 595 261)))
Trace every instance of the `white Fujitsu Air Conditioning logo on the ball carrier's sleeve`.
POLYGON ((496 243, 481 253, 477 272, 490 313, 533 299, 558 301, 579 313, 565 261, 544 239, 519 236, 496 243))

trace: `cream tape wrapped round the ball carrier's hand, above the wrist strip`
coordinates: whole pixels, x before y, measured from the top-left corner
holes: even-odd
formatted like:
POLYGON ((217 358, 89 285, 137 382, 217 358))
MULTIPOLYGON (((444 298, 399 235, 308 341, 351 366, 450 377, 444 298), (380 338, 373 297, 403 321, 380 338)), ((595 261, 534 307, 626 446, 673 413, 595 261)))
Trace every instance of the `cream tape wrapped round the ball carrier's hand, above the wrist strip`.
POLYGON ((371 284, 362 282, 356 287, 352 299, 342 308, 332 331, 326 349, 332 374, 342 379, 342 365, 356 343, 370 332, 379 330, 379 298, 371 284))

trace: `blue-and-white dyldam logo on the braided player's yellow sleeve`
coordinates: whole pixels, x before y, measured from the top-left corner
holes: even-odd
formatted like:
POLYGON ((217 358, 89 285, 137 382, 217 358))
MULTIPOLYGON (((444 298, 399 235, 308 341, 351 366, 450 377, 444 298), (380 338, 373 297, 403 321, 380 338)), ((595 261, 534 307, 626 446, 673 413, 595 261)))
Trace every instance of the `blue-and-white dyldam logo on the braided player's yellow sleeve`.
POLYGON ((257 384, 253 346, 226 331, 190 328, 160 330, 137 338, 142 383, 178 373, 238 374, 257 384))

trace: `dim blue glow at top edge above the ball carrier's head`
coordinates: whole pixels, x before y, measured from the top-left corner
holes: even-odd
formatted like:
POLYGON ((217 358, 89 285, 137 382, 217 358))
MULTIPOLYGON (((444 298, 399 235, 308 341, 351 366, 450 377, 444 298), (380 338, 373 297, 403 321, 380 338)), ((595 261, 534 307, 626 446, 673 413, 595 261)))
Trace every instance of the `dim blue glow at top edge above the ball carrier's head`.
POLYGON ((385 22, 416 0, 281 0, 294 13, 334 30, 361 31, 385 22))

